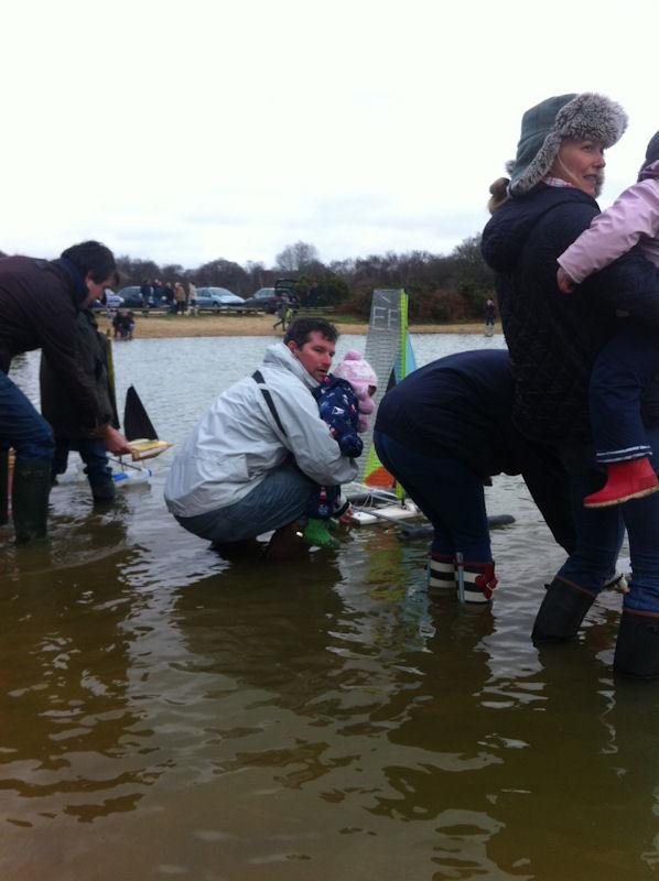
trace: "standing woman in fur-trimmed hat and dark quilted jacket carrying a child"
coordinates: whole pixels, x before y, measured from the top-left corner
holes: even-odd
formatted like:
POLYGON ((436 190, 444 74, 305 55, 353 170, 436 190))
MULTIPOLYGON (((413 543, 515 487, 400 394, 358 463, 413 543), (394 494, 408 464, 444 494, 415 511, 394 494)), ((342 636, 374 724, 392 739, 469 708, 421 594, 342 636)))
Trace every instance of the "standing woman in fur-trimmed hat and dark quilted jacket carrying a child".
MULTIPOLYGON (((499 314, 515 370, 512 422, 554 447, 570 475, 576 547, 551 581, 533 626, 537 641, 574 637, 612 577, 629 534, 633 584, 625 596, 614 667, 659 676, 659 494, 622 508, 586 509, 602 486, 592 446, 588 382, 616 315, 659 338, 659 281, 639 250, 591 275, 575 296, 557 284, 557 259, 599 213, 604 151, 627 124, 623 108, 584 93, 549 98, 522 118, 510 180, 490 187, 483 254, 497 274, 499 314)), ((659 389, 642 395, 648 440, 659 454, 659 389)))

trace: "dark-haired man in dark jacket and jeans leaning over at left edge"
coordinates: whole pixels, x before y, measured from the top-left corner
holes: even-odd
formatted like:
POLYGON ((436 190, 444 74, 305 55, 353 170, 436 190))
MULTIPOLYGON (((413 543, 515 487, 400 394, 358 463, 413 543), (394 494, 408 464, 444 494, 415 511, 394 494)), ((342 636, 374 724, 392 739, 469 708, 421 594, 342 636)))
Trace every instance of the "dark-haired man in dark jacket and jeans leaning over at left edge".
POLYGON ((112 252, 97 241, 74 244, 58 260, 0 259, 0 523, 8 519, 7 453, 15 450, 12 513, 18 543, 47 530, 53 433, 9 378, 14 355, 41 348, 66 390, 80 429, 115 454, 129 453, 107 420, 78 347, 77 315, 117 284, 112 252), (4 475, 4 476, 3 476, 4 475))

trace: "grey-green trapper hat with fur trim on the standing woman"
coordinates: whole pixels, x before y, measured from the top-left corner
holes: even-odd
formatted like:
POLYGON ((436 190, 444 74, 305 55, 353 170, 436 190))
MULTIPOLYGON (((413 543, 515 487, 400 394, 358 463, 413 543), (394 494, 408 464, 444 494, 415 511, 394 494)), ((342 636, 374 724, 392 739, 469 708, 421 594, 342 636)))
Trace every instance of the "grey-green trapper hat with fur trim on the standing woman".
POLYGON ((559 95, 531 107, 521 118, 517 156, 507 164, 511 196, 532 189, 551 168, 562 141, 592 138, 613 146, 627 128, 627 113, 604 95, 559 95))

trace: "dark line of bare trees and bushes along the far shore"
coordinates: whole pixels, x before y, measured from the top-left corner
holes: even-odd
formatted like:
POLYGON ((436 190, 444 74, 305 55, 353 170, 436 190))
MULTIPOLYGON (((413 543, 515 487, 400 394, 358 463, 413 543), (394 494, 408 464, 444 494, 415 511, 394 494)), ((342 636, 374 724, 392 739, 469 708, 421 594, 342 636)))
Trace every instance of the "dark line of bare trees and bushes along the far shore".
MULTIPOLYGON (((0 255, 4 254, 0 251, 0 255)), ((277 254, 271 268, 251 261, 240 265, 219 258, 196 269, 184 269, 179 263, 161 265, 127 255, 119 257, 117 264, 125 285, 161 279, 193 282, 197 287, 228 287, 240 296, 270 287, 280 278, 295 279, 301 303, 315 282, 318 305, 332 305, 338 312, 363 318, 368 317, 376 287, 404 287, 410 294, 410 319, 414 322, 479 320, 485 301, 494 292, 494 274, 480 255, 479 236, 465 239, 449 254, 388 251, 383 255, 323 263, 313 244, 298 241, 277 254)))

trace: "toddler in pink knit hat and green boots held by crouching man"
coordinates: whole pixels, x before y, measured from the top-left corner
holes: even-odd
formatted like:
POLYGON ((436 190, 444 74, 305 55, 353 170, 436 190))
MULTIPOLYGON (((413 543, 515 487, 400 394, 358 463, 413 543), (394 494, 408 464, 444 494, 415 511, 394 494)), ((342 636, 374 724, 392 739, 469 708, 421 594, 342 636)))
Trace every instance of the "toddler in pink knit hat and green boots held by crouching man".
MULTIPOLYGON (((318 414, 344 456, 361 455, 363 443, 357 433, 368 428, 368 416, 375 410, 372 395, 378 388, 375 370, 358 351, 347 351, 343 361, 313 391, 318 414)), ((342 504, 341 487, 318 486, 310 499, 304 542, 318 547, 337 547, 338 542, 327 531, 331 518, 341 516, 348 508, 342 504)))

